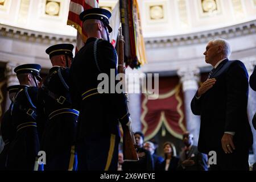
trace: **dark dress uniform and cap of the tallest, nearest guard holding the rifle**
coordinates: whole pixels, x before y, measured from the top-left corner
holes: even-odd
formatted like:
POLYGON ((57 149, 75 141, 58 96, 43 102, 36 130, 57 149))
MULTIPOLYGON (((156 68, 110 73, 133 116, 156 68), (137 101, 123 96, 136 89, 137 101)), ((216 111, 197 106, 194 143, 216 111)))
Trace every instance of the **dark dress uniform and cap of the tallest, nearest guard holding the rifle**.
MULTIPOLYGON (((110 15, 104 9, 90 9, 80 18, 99 19, 108 25, 110 15)), ((71 65, 70 91, 73 104, 80 110, 76 143, 78 170, 117 170, 118 121, 126 124, 129 113, 125 94, 97 91, 101 82, 97 80, 98 75, 105 73, 110 78, 110 69, 117 74, 117 53, 108 41, 96 38, 87 39, 71 65)))

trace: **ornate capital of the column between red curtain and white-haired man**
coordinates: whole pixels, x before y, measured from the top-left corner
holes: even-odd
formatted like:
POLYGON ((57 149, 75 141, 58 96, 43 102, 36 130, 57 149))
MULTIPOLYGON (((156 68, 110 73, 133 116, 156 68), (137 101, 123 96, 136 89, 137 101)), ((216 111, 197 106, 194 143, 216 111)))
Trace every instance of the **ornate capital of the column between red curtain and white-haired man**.
POLYGON ((177 71, 180 81, 183 84, 183 91, 196 90, 198 88, 197 82, 199 81, 200 70, 199 68, 185 67, 177 71))

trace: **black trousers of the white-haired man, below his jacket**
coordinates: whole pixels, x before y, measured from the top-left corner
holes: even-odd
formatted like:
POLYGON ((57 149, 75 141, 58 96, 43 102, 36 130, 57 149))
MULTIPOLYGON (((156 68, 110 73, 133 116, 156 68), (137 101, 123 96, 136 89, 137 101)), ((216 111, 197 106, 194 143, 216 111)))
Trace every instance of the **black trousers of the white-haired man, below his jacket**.
POLYGON ((247 147, 237 147, 231 154, 225 154, 222 148, 215 151, 217 164, 210 165, 209 171, 249 171, 249 149, 247 147))

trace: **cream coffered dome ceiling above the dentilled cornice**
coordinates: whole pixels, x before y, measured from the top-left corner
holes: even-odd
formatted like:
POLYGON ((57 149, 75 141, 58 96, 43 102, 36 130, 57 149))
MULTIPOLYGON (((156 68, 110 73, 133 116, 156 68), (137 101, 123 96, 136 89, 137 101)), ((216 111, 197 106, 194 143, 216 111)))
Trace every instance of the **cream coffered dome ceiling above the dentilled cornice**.
MULTIPOLYGON (((99 0, 113 9, 117 0, 99 0)), ((256 0, 137 0, 146 38, 189 34, 256 19, 256 0)), ((0 0, 0 23, 76 36, 66 25, 69 0, 0 0)))

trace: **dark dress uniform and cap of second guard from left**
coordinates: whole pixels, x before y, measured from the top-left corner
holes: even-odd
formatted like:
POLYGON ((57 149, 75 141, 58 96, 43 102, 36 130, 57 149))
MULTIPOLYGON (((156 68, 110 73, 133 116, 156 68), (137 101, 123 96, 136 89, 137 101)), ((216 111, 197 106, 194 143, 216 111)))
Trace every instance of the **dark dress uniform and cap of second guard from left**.
MULTIPOLYGON (((14 72, 32 73, 34 79, 39 76, 40 65, 24 64, 16 67, 14 72)), ((7 169, 9 170, 34 170, 36 156, 40 144, 36 128, 36 100, 38 88, 25 86, 21 89, 14 101, 12 120, 16 128, 14 140, 10 143, 7 169)))

